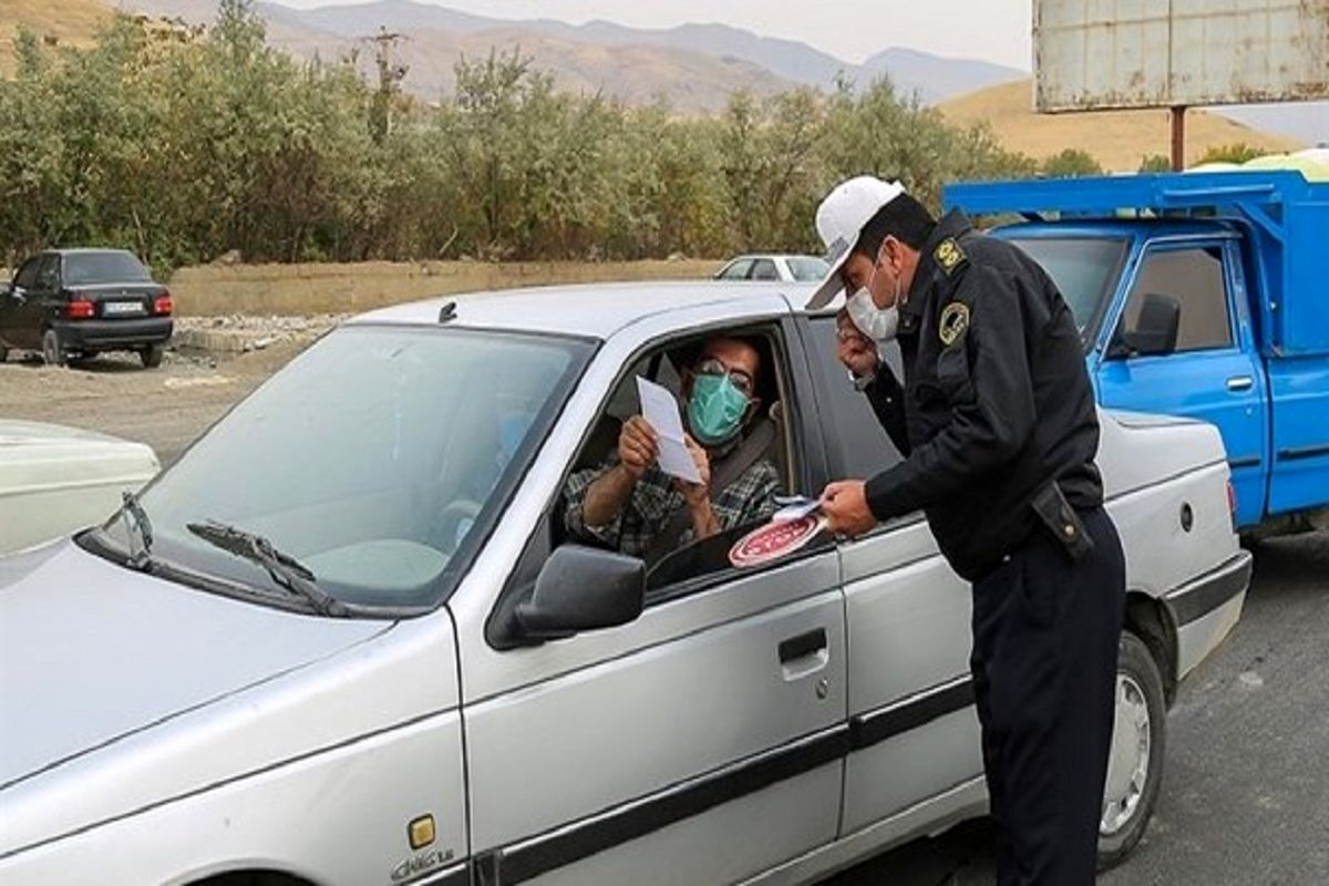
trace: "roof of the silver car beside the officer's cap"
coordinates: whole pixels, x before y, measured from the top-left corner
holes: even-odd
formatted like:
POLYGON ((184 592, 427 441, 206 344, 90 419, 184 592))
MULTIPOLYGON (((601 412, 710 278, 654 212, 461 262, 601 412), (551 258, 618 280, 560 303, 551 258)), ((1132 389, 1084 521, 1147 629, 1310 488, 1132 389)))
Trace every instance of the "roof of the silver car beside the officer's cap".
POLYGON ((690 307, 734 304, 739 308, 742 303, 736 319, 751 316, 756 311, 784 313, 789 311, 789 302, 801 304, 807 300, 804 290, 811 290, 809 284, 779 280, 769 280, 768 284, 763 291, 750 282, 699 279, 472 292, 380 308, 348 323, 436 325, 443 307, 455 302, 453 323, 462 327, 607 339, 645 317, 690 307))

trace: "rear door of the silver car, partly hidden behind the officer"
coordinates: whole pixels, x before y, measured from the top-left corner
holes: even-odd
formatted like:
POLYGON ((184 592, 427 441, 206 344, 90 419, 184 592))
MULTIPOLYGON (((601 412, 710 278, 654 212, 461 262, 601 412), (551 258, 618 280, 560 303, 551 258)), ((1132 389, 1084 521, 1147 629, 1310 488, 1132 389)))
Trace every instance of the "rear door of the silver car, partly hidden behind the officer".
MULTIPOLYGON (((835 317, 807 319, 817 422, 837 478, 901 458, 836 356, 835 317)), ((898 349, 888 353, 900 377, 898 349)), ((841 837, 873 825, 890 840, 985 798, 969 676, 970 588, 942 559, 922 514, 839 546, 849 634, 849 729, 841 837), (881 825, 880 822, 888 822, 881 825)))

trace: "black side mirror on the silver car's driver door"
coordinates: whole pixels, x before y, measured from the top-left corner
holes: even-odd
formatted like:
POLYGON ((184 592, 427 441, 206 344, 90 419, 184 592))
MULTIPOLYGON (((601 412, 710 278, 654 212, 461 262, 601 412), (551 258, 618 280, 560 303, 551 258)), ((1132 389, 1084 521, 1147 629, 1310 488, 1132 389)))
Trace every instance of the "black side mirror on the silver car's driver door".
POLYGON ((634 622, 645 604, 645 562, 562 545, 541 567, 530 599, 513 610, 513 628, 522 640, 557 640, 634 622))

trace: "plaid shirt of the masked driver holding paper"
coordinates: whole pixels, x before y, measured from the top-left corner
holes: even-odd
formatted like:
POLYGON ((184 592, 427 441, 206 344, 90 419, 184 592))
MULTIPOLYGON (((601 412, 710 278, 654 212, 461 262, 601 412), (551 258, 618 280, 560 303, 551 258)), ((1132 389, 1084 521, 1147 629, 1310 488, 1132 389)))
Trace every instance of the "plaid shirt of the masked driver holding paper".
MULTIPOLYGON (((674 478, 661 470, 659 465, 651 465, 637 481, 633 494, 613 521, 603 526, 587 526, 582 518, 586 490, 615 465, 618 465, 617 452, 611 453, 599 468, 578 470, 567 480, 563 490, 563 525, 577 538, 599 542, 621 554, 641 557, 657 533, 664 529, 670 515, 686 507, 687 502, 683 501, 683 493, 674 486, 674 478)), ((711 510, 715 511, 722 531, 735 526, 762 523, 776 511, 773 497, 779 491, 780 474, 771 460, 763 458, 718 495, 712 490, 711 510)), ((679 543, 686 545, 690 541, 692 541, 691 523, 679 543)))

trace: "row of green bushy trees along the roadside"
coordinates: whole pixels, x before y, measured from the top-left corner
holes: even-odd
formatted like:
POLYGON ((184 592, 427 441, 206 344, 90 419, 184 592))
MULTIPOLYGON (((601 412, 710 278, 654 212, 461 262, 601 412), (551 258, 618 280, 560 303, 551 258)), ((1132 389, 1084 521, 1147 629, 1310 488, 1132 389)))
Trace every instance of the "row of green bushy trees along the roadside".
POLYGON ((816 250, 837 179, 1083 174, 956 128, 881 80, 732 97, 714 117, 554 89, 520 56, 464 61, 437 105, 347 60, 271 49, 251 0, 214 27, 118 16, 89 48, 15 41, 0 81, 0 262, 130 248, 158 271, 246 262, 602 260, 816 250))

